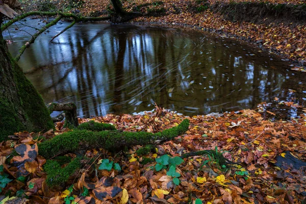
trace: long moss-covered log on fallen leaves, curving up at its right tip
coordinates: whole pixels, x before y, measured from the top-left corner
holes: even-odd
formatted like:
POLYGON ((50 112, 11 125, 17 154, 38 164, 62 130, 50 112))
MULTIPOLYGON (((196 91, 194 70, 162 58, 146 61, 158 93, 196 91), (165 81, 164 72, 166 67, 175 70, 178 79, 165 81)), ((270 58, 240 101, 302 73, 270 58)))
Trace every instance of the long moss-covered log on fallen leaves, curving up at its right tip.
MULTIPOLYGON (((80 126, 82 129, 86 129, 87 125, 83 124, 80 126)), ((92 129, 90 124, 88 126, 90 130, 98 130, 96 128, 92 129)), ((117 130, 93 132, 75 129, 40 143, 38 145, 39 155, 49 159, 56 155, 66 154, 67 152, 80 154, 92 148, 104 148, 114 151, 133 145, 160 144, 185 133, 188 127, 189 120, 185 119, 178 126, 155 134, 117 130)))

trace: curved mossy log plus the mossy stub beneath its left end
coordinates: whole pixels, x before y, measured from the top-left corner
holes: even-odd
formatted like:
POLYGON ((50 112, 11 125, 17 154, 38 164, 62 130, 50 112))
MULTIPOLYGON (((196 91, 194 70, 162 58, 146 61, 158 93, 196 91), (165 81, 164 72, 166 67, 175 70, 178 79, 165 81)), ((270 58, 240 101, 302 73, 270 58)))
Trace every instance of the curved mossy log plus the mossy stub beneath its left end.
MULTIPOLYGON (((58 135, 51 140, 38 144, 39 155, 46 159, 59 154, 74 152, 79 154, 87 149, 105 148, 119 150, 133 145, 159 144, 185 133, 189 127, 189 120, 185 119, 178 126, 152 134, 147 132, 122 132, 115 130, 111 124, 86 122, 78 129, 58 135), (98 131, 98 132, 95 132, 98 131)), ((80 167, 82 157, 77 157, 64 168, 55 160, 48 160, 44 166, 47 172, 46 183, 52 188, 60 188, 70 175, 80 167)))

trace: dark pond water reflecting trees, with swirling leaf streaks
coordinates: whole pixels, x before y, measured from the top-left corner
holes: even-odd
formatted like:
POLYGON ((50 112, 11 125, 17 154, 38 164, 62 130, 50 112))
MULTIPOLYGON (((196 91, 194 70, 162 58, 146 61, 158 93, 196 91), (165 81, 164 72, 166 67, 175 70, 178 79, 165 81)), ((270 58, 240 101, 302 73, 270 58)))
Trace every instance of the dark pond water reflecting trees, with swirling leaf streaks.
MULTIPOLYGON (((39 26, 38 20, 22 23, 39 26)), ((80 23, 48 42, 67 25, 38 37, 19 64, 45 103, 72 101, 79 116, 140 112, 155 103, 187 115, 240 110, 286 100, 288 89, 303 104, 303 75, 237 41, 191 30, 80 23)), ((35 32, 14 28, 13 55, 35 32)))

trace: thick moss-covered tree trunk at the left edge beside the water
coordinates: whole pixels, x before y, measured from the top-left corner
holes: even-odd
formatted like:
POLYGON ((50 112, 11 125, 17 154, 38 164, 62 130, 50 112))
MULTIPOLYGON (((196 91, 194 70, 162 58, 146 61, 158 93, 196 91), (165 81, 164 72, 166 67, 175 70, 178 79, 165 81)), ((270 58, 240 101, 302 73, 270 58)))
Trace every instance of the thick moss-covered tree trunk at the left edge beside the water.
POLYGON ((43 99, 12 59, 0 31, 0 141, 14 132, 53 127, 43 99))

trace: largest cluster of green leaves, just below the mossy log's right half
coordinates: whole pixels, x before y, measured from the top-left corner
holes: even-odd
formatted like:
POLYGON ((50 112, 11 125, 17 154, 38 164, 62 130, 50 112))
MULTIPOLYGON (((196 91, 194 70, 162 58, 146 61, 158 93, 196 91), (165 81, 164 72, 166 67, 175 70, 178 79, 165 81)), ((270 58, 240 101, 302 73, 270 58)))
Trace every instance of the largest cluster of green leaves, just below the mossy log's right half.
POLYGON ((169 166, 169 170, 167 171, 167 175, 173 178, 173 183, 175 185, 179 185, 181 183, 179 177, 181 174, 176 172, 176 166, 182 164, 184 160, 180 157, 171 158, 169 155, 163 155, 160 158, 156 158, 155 161, 157 164, 155 165, 155 170, 160 171, 162 169, 166 169, 169 166))

